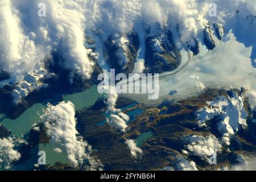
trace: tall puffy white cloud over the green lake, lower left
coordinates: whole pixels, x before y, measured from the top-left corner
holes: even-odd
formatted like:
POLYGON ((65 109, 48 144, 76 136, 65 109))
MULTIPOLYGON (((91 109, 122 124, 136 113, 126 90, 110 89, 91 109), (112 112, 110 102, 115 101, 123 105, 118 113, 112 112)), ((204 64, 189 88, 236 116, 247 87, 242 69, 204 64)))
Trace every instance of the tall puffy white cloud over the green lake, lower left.
MULTIPOLYGON (((72 102, 60 102, 58 105, 48 105, 41 116, 51 137, 51 143, 61 144, 68 159, 74 167, 81 167, 84 160, 90 162, 89 169, 97 169, 100 164, 90 156, 92 147, 79 136, 76 130, 75 106, 72 102)), ((60 150, 55 149, 56 152, 60 150)))

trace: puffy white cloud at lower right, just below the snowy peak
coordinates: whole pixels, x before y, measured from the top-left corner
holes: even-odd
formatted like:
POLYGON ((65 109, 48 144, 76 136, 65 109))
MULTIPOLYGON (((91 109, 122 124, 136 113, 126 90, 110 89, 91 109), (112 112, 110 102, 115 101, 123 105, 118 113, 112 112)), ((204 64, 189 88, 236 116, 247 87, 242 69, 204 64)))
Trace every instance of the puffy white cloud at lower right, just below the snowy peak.
POLYGON ((186 146, 188 151, 184 150, 183 154, 196 155, 202 160, 208 160, 209 157, 222 150, 220 142, 212 135, 209 137, 192 135, 188 137, 188 140, 191 141, 191 143, 186 146))

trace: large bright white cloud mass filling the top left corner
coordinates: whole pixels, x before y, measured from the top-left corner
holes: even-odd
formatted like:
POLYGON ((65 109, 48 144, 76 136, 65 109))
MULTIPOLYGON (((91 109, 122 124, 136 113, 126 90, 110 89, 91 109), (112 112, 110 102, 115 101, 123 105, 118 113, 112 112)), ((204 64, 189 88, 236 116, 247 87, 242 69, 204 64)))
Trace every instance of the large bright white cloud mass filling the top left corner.
POLYGON ((84 46, 86 1, 22 0, 1 1, 0 65, 22 80, 55 48, 60 63, 88 79, 94 63, 84 46), (39 3, 46 4, 46 16, 38 16, 39 3))

